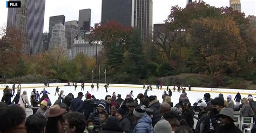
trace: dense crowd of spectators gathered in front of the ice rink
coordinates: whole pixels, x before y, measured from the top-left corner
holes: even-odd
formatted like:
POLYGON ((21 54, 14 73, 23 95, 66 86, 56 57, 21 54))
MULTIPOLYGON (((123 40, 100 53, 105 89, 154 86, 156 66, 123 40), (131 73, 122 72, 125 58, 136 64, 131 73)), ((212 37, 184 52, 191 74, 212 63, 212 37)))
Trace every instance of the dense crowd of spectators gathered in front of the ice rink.
POLYGON ((86 94, 79 92, 76 98, 72 93, 58 93, 57 86, 58 99, 52 104, 48 97, 50 93, 45 88, 41 93, 34 88, 29 100, 26 91, 19 95, 19 87, 16 94, 18 98, 11 101, 14 93, 6 86, 0 102, 0 132, 237 133, 241 130, 234 124, 234 111, 240 110, 241 116, 253 117, 254 121, 256 118, 256 102, 252 95, 241 98, 240 93, 237 93, 235 105, 231 95, 225 99, 220 93, 219 97, 212 99, 210 93, 205 93, 203 99, 198 98, 192 104, 186 88, 180 87, 182 93, 178 93, 179 102, 174 104, 170 88, 166 90, 168 93, 164 90, 161 98, 148 96, 150 87, 146 88, 144 84, 143 88, 146 89, 144 94, 139 93, 135 98, 131 91, 125 99, 122 99, 121 94, 116 95, 116 92, 106 95, 105 99, 96 99, 88 91, 86 94), (163 102, 160 103, 160 99, 163 102), (26 118, 25 109, 28 107, 32 108, 33 115, 26 118), (197 123, 194 123, 195 112, 199 112, 197 123))

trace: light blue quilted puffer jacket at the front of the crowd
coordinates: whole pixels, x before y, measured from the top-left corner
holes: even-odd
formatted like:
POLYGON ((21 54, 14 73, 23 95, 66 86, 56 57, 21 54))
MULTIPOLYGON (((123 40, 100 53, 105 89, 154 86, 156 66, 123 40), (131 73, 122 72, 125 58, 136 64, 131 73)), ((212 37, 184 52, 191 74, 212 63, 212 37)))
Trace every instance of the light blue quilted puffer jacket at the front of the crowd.
POLYGON ((145 114, 138 120, 133 133, 153 133, 152 120, 149 115, 145 114))

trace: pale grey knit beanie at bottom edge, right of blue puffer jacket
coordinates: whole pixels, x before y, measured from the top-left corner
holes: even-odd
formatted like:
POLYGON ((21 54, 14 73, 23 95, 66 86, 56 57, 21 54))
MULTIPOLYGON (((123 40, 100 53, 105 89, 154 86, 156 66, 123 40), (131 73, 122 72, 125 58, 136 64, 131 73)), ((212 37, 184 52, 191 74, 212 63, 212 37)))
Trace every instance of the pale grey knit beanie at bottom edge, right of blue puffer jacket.
POLYGON ((161 133, 161 132, 172 132, 171 124, 166 120, 160 120, 154 125, 154 132, 161 133))

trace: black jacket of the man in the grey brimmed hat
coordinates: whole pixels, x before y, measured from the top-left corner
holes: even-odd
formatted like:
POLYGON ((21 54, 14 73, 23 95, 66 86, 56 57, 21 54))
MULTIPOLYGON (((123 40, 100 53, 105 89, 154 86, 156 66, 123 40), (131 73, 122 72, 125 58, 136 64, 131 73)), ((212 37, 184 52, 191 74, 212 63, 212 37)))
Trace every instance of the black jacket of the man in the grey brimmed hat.
POLYGON ((217 133, 241 133, 242 131, 235 126, 234 123, 228 124, 228 125, 224 125, 224 126, 218 126, 215 129, 215 132, 217 133))

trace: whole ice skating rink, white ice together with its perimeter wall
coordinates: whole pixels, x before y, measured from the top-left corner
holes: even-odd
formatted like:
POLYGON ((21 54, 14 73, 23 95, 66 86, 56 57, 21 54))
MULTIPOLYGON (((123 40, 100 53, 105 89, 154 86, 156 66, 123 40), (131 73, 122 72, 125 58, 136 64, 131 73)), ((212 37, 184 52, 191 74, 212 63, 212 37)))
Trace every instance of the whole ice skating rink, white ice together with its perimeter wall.
MULTIPOLYGON (((8 84, 9 88, 12 87, 11 84, 8 84)), ((56 94, 55 96, 55 90, 56 87, 59 86, 59 91, 63 90, 64 94, 67 95, 69 93, 72 93, 75 98, 77 97, 78 92, 81 91, 81 86, 80 84, 78 84, 77 87, 77 91, 75 91, 75 86, 64 86, 66 85, 65 83, 62 84, 50 84, 50 87, 44 87, 43 84, 21 84, 22 85, 22 92, 23 91, 27 91, 28 93, 28 99, 30 99, 30 93, 32 92, 33 88, 36 88, 36 91, 38 91, 39 93, 41 91, 43 91, 43 88, 45 88, 46 91, 48 91, 49 94, 49 98, 51 100, 52 103, 54 103, 57 99, 58 99, 58 95, 56 94)), ((72 84, 71 84, 72 85, 72 84)), ((91 84, 87 83, 85 84, 84 87, 84 91, 82 91, 84 94, 89 91, 89 93, 91 95, 95 95, 96 99, 104 99, 106 95, 111 95, 113 94, 113 92, 116 92, 117 94, 121 94, 122 98, 125 99, 126 95, 129 94, 131 91, 133 91, 133 99, 135 99, 137 97, 137 95, 139 93, 143 93, 145 92, 145 89, 143 90, 143 85, 123 85, 123 84, 110 84, 109 88, 108 88, 108 93, 105 92, 105 87, 104 84, 100 84, 99 85, 99 91, 97 92, 97 85, 94 84, 94 91, 91 91, 91 84)), ((3 88, 6 85, 0 85, 0 90, 3 91, 3 88)), ((173 88, 173 86, 169 86, 169 88, 173 88)), ((177 88, 177 87, 176 87, 177 88)), ((147 95, 156 95, 157 99, 162 102, 163 99, 161 98, 161 96, 164 93, 164 90, 166 90, 166 86, 163 86, 163 90, 157 90, 156 86, 153 86, 153 91, 148 91, 147 95)), ((253 95, 253 98, 255 97, 255 93, 254 90, 234 90, 234 89, 222 89, 222 88, 196 88, 196 87, 192 87, 191 89, 192 91, 188 91, 188 87, 186 87, 186 93, 187 93, 187 97, 188 99, 190 99, 191 104, 193 105, 194 102, 196 102, 197 98, 202 98, 204 97, 204 94, 206 92, 211 94, 211 98, 215 98, 218 97, 219 93, 223 93, 224 98, 226 99, 227 95, 231 95, 232 99, 234 99, 235 94, 237 94, 237 92, 241 93, 242 98, 244 97, 248 97, 248 94, 251 93, 253 95)), ((16 92, 17 93, 17 84, 16 84, 16 92)), ((167 92, 168 94, 168 92, 167 92)), ((178 100, 179 100, 179 96, 181 93, 178 93, 177 90, 176 92, 173 92, 172 90, 172 102, 173 104, 177 104, 178 100)), ((3 92, 0 93, 0 98, 3 97, 3 92)), ((42 97, 42 94, 41 94, 42 97)), ((12 97, 12 100, 14 99, 14 97, 12 97)), ((82 100, 84 100, 85 97, 83 97, 82 100)))

